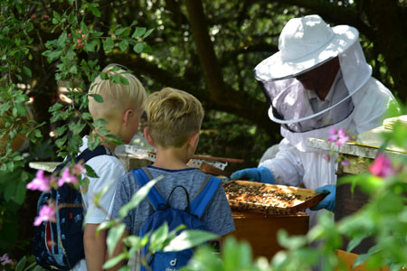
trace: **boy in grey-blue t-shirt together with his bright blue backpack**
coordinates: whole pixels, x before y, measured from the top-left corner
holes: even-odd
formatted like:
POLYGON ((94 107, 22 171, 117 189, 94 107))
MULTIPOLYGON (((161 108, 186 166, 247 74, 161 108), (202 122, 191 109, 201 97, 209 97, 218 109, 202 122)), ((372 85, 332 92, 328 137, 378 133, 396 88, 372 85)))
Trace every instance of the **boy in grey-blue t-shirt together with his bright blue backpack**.
MULTIPOLYGON (((159 217, 159 211, 166 211, 170 230, 176 220, 169 218, 171 213, 178 216, 182 212, 181 216, 194 217, 192 220, 197 223, 192 225, 194 229, 204 229, 220 237, 232 232, 232 211, 220 180, 187 165, 198 144, 204 118, 201 102, 185 91, 166 88, 147 98, 145 110, 148 125, 144 133, 147 142, 156 147, 156 161, 120 178, 113 217, 118 217, 118 210, 149 179, 160 175, 164 178, 156 183, 145 201, 128 212, 123 220, 125 236, 143 236, 148 230, 154 230, 152 219, 163 219, 159 217)), ((142 251, 141 257, 144 256, 142 251)), ((155 255, 147 258, 147 262, 152 270, 158 267, 177 270, 189 257, 191 255, 155 255)))

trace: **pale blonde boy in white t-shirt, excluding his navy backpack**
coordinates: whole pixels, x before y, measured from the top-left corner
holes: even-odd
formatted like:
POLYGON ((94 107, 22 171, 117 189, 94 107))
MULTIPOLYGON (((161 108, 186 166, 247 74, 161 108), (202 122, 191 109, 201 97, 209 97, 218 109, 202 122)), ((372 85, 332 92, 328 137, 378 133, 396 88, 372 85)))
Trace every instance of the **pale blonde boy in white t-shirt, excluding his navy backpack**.
MULTIPOLYGON (((124 144, 128 144, 137 132, 147 98, 146 90, 140 81, 119 65, 109 65, 91 83, 89 94, 97 94, 103 98, 103 102, 100 103, 91 95, 89 97, 89 110, 93 119, 107 120, 106 128, 109 130, 109 134, 118 135, 124 144), (120 81, 120 83, 114 81, 120 81)), ((92 133, 97 133, 97 131, 92 131, 92 133)), ((108 142, 106 139, 101 138, 101 145, 105 146, 106 154, 95 156, 86 162, 95 171, 98 178, 89 178, 88 191, 81 192, 86 213, 83 235, 86 261, 85 259, 80 260, 73 268, 74 270, 102 270, 107 256, 106 231, 101 230, 96 234, 96 229, 100 223, 109 220, 118 178, 126 171, 123 164, 114 155, 116 144, 108 142), (97 206, 94 201, 95 195, 108 185, 110 185, 109 190, 99 199, 99 206, 97 206)), ((88 136, 84 136, 80 153, 87 148, 88 136)))

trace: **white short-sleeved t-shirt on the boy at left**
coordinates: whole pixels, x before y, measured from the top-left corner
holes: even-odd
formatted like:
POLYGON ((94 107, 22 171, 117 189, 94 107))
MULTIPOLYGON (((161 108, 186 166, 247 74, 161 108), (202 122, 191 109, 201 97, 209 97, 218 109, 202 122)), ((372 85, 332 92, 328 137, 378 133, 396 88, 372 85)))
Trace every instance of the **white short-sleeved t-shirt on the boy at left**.
MULTIPOLYGON (((83 152, 88 147, 88 138, 82 138, 80 152, 83 152)), ((112 155, 99 155, 91 158, 87 163, 93 171, 98 174, 99 178, 89 178, 89 186, 87 192, 82 192, 82 203, 85 211, 86 224, 100 224, 103 221, 109 220, 113 208, 113 199, 116 193, 118 178, 126 173, 123 164, 117 157, 112 155), (103 210, 97 208, 93 202, 94 197, 106 186, 109 190, 100 198, 99 204, 103 210)), ((83 177, 83 176, 82 176, 83 177)), ((73 267, 75 271, 86 271, 86 260, 82 259, 73 267)))

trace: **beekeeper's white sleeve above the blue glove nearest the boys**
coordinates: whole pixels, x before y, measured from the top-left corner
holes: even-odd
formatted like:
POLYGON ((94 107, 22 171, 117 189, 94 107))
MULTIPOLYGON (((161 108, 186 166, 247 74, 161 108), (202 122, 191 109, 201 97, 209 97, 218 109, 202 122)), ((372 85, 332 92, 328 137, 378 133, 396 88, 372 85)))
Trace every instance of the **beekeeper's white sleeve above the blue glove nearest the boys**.
POLYGON ((276 157, 263 161, 259 166, 270 169, 277 184, 299 186, 302 183, 304 168, 299 151, 285 138, 279 143, 276 157))

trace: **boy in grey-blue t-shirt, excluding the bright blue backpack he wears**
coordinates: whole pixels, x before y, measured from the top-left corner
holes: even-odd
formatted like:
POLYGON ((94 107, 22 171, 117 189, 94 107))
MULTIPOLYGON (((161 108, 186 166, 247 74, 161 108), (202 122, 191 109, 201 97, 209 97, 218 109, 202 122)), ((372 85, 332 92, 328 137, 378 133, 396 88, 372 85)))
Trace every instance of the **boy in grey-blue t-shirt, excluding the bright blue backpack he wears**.
MULTIPOLYGON (((150 178, 163 175, 163 180, 156 183, 156 190, 166 200, 170 192, 173 192, 168 199, 169 205, 173 209, 185 210, 185 192, 181 189, 173 191, 175 186, 183 186, 192 200, 208 180, 205 173, 187 165, 198 145, 204 108, 197 98, 185 91, 166 88, 147 98, 146 113, 148 124, 144 133, 147 142, 156 146, 156 161, 144 169, 147 169, 150 178)), ((118 210, 128 203, 139 189, 140 185, 132 173, 120 178, 113 217, 118 217, 118 210)), ((125 235, 138 236, 140 228, 154 212, 148 200, 130 210, 123 220, 126 225, 125 235)), ((217 187, 201 220, 208 231, 219 236, 234 230, 232 211, 222 184, 217 187)), ((117 249, 120 250, 121 248, 117 249)))

